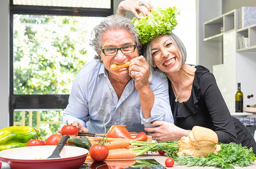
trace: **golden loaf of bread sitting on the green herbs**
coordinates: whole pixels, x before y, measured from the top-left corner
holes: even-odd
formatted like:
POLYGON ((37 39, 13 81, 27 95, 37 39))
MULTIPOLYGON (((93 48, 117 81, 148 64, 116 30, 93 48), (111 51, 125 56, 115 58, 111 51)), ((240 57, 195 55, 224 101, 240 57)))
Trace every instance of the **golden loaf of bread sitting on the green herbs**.
POLYGON ((207 154, 218 154, 220 145, 218 145, 218 136, 209 128, 194 126, 188 136, 183 136, 178 141, 179 152, 177 155, 182 157, 182 154, 200 157, 207 154))

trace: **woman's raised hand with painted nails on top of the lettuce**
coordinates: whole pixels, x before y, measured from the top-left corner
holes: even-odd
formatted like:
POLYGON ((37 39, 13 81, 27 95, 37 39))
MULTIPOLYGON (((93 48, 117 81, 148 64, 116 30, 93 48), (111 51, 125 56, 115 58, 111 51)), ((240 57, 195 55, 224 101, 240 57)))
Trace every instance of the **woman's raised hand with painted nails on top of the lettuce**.
POLYGON ((146 12, 143 10, 143 6, 145 6, 148 11, 151 11, 153 5, 151 2, 144 0, 125 0, 120 2, 117 8, 118 15, 125 15, 126 11, 130 11, 134 14, 134 16, 140 19, 139 14, 142 13, 144 16, 147 16, 146 12))

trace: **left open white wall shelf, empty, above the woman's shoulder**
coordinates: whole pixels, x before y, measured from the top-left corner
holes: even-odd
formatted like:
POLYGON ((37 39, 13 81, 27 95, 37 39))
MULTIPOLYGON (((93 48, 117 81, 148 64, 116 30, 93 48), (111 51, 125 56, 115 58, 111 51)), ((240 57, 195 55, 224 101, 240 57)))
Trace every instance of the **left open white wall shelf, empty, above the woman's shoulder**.
POLYGON ((204 41, 222 41, 223 34, 239 28, 239 10, 232 10, 204 23, 204 41))

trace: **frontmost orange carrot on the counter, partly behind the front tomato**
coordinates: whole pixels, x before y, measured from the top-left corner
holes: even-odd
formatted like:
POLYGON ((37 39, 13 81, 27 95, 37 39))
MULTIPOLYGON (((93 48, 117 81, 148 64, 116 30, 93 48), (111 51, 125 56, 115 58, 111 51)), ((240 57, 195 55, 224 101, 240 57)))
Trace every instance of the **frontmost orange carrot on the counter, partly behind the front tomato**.
MULTIPOLYGON (((135 158, 136 153, 130 149, 111 149, 109 150, 108 157, 106 159, 127 159, 135 158)), ((92 160, 90 155, 86 157, 86 160, 92 160)))

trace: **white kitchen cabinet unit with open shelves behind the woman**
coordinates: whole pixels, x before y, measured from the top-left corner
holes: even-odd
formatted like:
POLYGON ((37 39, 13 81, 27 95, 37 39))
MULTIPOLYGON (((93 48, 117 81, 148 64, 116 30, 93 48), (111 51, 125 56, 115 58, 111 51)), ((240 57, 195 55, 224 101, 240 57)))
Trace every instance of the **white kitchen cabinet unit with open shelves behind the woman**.
POLYGON ((238 28, 239 10, 232 10, 204 23, 204 41, 215 41, 222 45, 220 55, 223 62, 213 66, 213 74, 230 112, 235 112, 238 82, 244 94, 244 106, 249 104, 248 95, 256 97, 256 25, 238 28), (223 32, 220 31, 222 27, 223 32), (246 48, 239 47, 242 36, 248 37, 249 45, 246 48))

